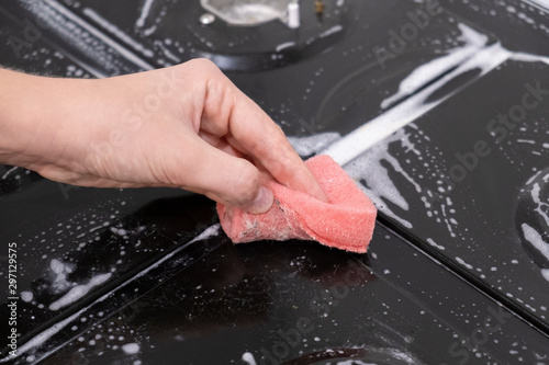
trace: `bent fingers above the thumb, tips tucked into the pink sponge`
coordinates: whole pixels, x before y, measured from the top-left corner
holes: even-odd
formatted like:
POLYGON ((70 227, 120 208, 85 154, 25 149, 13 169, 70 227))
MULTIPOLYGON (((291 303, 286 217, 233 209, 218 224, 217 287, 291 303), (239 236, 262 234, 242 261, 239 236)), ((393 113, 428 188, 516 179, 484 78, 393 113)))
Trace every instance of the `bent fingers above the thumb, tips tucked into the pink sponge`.
POLYGON ((318 182, 294 151, 282 129, 221 71, 206 82, 202 128, 257 160, 283 185, 326 202, 318 182))

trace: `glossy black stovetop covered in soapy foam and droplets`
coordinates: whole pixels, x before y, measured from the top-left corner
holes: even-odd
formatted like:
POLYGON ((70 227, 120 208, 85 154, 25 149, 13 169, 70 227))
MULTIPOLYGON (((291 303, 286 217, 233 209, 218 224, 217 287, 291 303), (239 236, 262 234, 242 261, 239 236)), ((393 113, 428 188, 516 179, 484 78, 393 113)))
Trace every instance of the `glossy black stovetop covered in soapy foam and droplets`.
POLYGON ((0 276, 15 242, 19 349, 3 340, 0 362, 549 363, 547 11, 300 3, 298 30, 205 24, 198 0, 0 5, 7 67, 91 78, 212 59, 380 210, 365 255, 233 247, 204 197, 2 167, 0 276))

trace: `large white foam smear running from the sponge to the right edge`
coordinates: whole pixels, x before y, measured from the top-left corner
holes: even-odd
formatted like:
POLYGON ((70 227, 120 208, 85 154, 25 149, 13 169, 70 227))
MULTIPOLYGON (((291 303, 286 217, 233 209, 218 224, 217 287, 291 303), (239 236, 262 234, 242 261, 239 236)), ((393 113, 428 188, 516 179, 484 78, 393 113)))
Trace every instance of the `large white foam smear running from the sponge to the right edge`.
MULTIPOLYGON (((389 201, 403 210, 408 209, 408 203, 396 189, 388 169, 382 166, 382 161, 386 162, 384 163, 385 166, 389 164, 393 172, 396 172, 406 179, 415 187, 417 193, 422 193, 421 185, 417 184, 417 182, 415 182, 414 179, 401 167, 400 160, 395 159, 389 152, 389 145, 400 140, 403 144, 403 147, 406 147, 415 155, 418 155, 418 151, 412 148, 413 146, 406 146, 406 144, 410 145, 407 139, 408 136, 402 128, 450 98, 452 93, 441 96, 435 101, 429 100, 433 93, 467 71, 473 69, 479 70, 480 72, 478 77, 480 78, 498 67, 507 59, 529 62, 541 61, 549 65, 549 58, 547 57, 513 53, 503 48, 500 44, 493 44, 485 47, 484 45, 488 42, 488 37, 485 35, 482 35, 463 24, 459 24, 459 27, 462 32, 460 39, 464 43, 464 45, 460 48, 461 50, 455 48, 447 56, 439 58, 437 62, 441 66, 435 67, 435 72, 433 73, 432 71, 430 77, 428 77, 426 72, 433 64, 427 64, 429 67, 425 67, 426 65, 423 65, 413 71, 407 80, 405 79, 402 84, 404 89, 408 87, 412 88, 411 85, 419 87, 419 84, 435 79, 437 77, 437 72, 440 70, 452 69, 437 81, 405 99, 400 104, 391 107, 383 114, 371 119, 343 138, 340 138, 337 134, 318 134, 305 138, 289 138, 292 146, 301 156, 311 156, 312 153, 328 155, 356 181, 366 181, 367 186, 360 184, 360 187, 373 201, 378 209, 408 228, 412 227, 412 224, 399 217, 397 214, 393 212, 394 208, 392 206, 389 207, 385 204, 385 202, 389 201), (474 49, 473 54, 471 54, 471 49, 474 49), (462 62, 459 64, 460 61, 462 62), (459 66, 456 64, 459 64, 459 66), (323 145, 325 148, 322 147, 323 145)), ((463 85, 462 88, 464 87, 467 85, 463 85)), ((456 90, 453 93, 459 90, 460 89, 456 90)), ((533 191, 533 194, 536 194, 536 190, 533 191)), ((423 198, 426 197, 424 196, 423 198)), ((533 198, 536 199, 536 196, 533 195, 533 198)), ((537 199, 539 201, 539 196, 537 196, 537 199)), ((437 221, 442 221, 444 219, 450 236, 456 237, 453 226, 456 226, 457 223, 453 218, 449 217, 449 214, 452 213, 452 209, 449 207, 450 205, 451 202, 448 202, 448 207, 440 207, 442 217, 437 218, 437 221)), ((430 205, 426 204, 426 207, 430 208, 430 205)), ((536 210, 538 210, 539 214, 542 213, 541 207, 538 207, 536 210)), ((433 216, 433 212, 427 213, 430 214, 429 216, 433 216)), ((544 218, 549 225, 549 217, 545 216, 544 218)))

